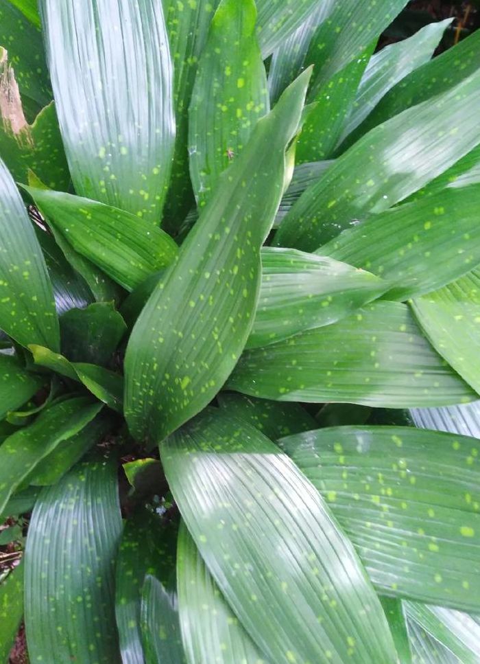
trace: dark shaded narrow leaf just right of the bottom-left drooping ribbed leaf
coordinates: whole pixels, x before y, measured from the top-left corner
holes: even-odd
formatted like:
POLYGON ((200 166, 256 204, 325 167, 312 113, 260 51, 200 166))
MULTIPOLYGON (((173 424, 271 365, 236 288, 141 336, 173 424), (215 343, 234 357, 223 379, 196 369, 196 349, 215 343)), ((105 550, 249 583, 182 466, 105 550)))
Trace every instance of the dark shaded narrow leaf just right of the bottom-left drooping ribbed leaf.
POLYGON ((145 508, 136 510, 125 523, 115 583, 115 615, 124 664, 145 661, 141 636, 143 582, 147 573, 158 575, 175 569, 175 547, 171 546, 175 535, 175 529, 162 527, 158 516, 145 508))

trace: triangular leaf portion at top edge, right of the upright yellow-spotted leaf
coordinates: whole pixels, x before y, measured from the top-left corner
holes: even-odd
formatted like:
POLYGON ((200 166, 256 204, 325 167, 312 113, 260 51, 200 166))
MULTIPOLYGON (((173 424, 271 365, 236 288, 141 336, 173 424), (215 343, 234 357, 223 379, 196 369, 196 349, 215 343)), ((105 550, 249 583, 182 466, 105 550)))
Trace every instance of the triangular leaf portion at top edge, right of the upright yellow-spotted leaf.
MULTIPOLYGON (((263 58, 280 47, 289 34, 296 31, 309 14, 324 3, 328 3, 328 0, 256 0, 259 10, 256 30, 263 58)), ((293 78, 296 76, 297 73, 293 78)))

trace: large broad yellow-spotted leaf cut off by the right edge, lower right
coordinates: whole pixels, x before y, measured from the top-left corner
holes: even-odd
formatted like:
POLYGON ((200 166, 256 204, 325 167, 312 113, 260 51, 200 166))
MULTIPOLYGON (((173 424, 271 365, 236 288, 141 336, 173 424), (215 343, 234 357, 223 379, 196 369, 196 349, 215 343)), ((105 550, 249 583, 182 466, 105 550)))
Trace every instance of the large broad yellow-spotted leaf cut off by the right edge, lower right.
POLYGON ((343 426, 281 442, 328 501, 378 591, 479 610, 477 439, 343 426))

